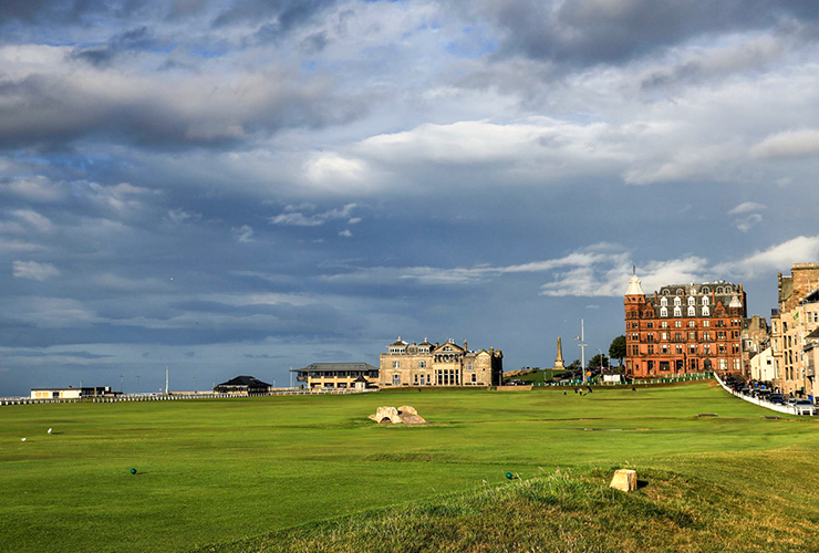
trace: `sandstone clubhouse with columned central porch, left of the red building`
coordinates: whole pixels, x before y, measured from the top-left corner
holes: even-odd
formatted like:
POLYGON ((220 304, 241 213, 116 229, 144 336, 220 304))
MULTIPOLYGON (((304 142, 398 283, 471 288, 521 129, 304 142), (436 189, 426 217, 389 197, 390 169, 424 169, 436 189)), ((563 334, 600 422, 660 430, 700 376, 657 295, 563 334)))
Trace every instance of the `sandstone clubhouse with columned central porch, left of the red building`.
POLYGON ((502 380, 504 354, 490 347, 470 351, 454 340, 443 344, 408 344, 398 337, 381 354, 379 385, 394 386, 497 386, 502 380))

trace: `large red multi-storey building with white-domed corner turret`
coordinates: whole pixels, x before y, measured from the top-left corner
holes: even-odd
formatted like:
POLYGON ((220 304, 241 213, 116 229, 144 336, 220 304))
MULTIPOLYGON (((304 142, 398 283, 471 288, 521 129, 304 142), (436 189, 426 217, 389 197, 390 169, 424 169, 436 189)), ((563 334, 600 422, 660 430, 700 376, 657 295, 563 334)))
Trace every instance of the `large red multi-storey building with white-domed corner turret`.
POLYGON ((647 295, 634 274, 624 299, 626 374, 742 373, 745 305, 742 284, 672 284, 647 295))

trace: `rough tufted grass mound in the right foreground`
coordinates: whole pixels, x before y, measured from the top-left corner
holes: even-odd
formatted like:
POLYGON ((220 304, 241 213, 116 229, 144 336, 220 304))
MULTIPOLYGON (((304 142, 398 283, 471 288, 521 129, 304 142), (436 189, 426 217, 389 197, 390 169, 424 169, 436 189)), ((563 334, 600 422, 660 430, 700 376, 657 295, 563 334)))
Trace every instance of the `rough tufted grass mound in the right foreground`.
POLYGON ((649 468, 630 494, 609 488, 615 467, 556 470, 201 553, 817 551, 819 471, 812 459, 794 452, 714 456, 706 461, 724 469, 718 482, 649 468), (777 483, 786 497, 771 487, 777 483))

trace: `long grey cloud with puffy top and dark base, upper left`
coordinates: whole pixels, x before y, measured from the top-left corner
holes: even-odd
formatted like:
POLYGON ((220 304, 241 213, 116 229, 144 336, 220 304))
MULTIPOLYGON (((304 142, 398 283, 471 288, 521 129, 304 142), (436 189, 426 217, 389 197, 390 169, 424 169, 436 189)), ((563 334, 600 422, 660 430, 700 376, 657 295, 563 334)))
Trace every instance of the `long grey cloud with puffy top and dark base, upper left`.
POLYGON ((361 101, 338 97, 328 81, 300 83, 286 71, 259 71, 229 90, 215 75, 194 79, 199 85, 179 90, 158 79, 104 73, 0 77, 0 147, 86 137, 152 148, 224 146, 349 122, 364 112, 361 101))

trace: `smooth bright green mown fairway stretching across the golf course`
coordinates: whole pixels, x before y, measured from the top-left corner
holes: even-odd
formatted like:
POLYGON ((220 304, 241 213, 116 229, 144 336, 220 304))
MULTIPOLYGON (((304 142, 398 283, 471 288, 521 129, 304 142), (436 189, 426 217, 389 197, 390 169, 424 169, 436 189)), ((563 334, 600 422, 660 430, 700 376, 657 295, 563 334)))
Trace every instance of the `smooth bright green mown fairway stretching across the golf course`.
MULTIPOLYGON (((446 512, 446 502, 455 501, 479 512, 481 493, 511 493, 496 499, 515 512, 515 490, 526 482, 505 484, 507 471, 526 480, 571 469, 597 490, 590 498, 602 494, 604 501, 610 469, 625 462, 655 479, 629 498, 654 494, 663 504, 662 490, 678 479, 694 482, 683 486, 683 495, 706 507, 723 499, 730 504, 739 486, 748 498, 759 492, 755 515, 764 517, 763 503, 771 501, 780 525, 792 519, 816 528, 819 420, 763 415, 773 414, 709 384, 583 397, 425 390, 3 407, 0 550, 276 551, 284 540, 311 551, 319 546, 305 532, 334 532, 320 521, 380 507, 412 501, 412 509, 438 505, 446 512), (379 405, 405 404, 431 424, 366 419, 379 405), (718 417, 697 418, 702 413, 718 417), (497 486, 501 491, 487 491, 497 486), (795 498, 798 505, 791 505, 795 498)), ((552 486, 549 478, 536 480, 552 486)), ((636 509, 630 499, 608 501, 598 508, 612 510, 612 520, 614 508, 636 509)), ((356 524, 369 524, 362 531, 391 524, 382 514, 336 520, 346 521, 353 535, 356 524)), ((396 544, 395 551, 408 550, 396 544)), ((338 551, 367 549, 359 545, 338 551)), ((607 551, 593 545, 577 551, 607 551)))

